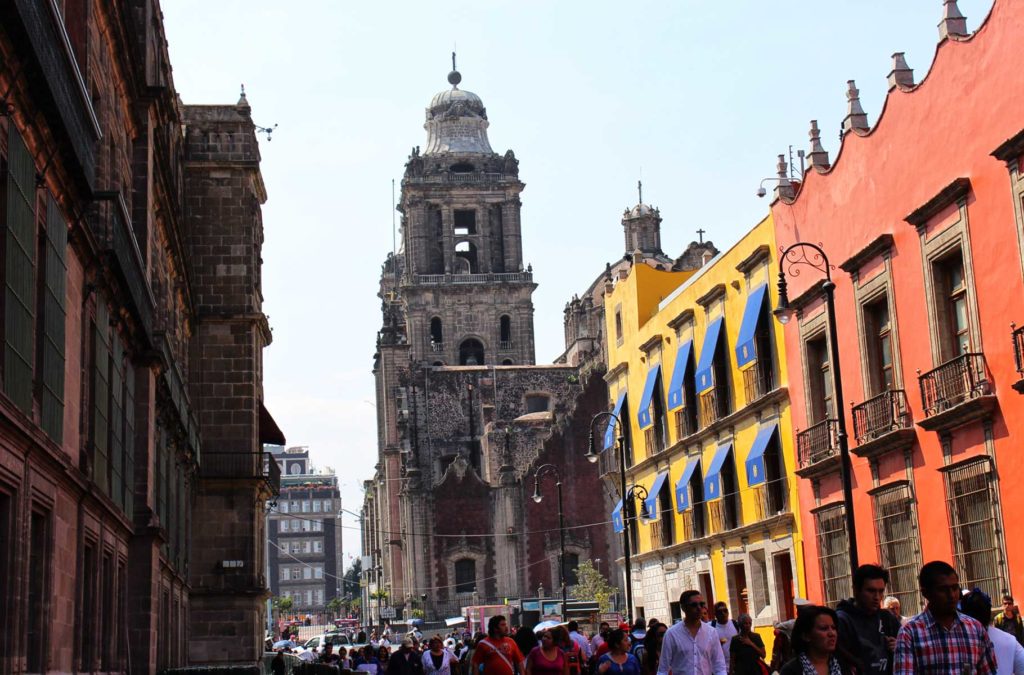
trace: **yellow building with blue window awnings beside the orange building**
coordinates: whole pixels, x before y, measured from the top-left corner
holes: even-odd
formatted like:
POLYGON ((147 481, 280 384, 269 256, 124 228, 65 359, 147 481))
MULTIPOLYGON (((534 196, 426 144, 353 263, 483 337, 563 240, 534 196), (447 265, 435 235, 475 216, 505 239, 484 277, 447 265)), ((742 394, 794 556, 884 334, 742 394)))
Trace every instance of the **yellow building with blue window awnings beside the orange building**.
MULTIPOLYGON (((769 217, 696 272, 638 264, 605 295, 627 481, 647 493, 637 517, 622 502, 612 514, 630 531, 635 614, 671 624, 695 588, 750 614, 766 644, 806 595, 775 251, 769 217)), ((618 435, 600 444, 606 477, 618 435)))

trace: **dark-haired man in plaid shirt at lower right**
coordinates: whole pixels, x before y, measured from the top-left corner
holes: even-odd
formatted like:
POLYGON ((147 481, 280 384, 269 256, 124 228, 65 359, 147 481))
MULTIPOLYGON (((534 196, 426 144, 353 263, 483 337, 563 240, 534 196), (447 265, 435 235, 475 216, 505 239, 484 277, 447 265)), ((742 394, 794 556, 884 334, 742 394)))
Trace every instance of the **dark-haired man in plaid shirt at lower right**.
POLYGON ((896 636, 893 674, 995 675, 995 653, 985 627, 956 610, 956 571, 936 560, 921 568, 918 581, 928 605, 896 636))

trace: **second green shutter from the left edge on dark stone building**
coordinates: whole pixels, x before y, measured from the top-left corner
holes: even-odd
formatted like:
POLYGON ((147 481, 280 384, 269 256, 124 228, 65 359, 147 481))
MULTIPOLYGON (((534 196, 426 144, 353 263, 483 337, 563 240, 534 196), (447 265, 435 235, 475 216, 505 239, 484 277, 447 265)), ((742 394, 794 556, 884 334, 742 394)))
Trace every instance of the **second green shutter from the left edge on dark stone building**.
POLYGON ((42 427, 63 439, 65 321, 67 317, 68 224, 52 196, 46 205, 46 279, 43 297, 42 427))

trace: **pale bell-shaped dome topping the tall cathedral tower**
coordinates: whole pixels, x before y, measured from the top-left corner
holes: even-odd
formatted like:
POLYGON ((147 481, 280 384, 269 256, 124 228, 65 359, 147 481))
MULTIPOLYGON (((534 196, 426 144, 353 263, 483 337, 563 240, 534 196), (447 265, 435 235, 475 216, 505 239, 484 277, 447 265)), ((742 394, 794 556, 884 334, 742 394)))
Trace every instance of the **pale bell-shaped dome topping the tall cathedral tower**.
POLYGON ((434 95, 427 108, 427 145, 424 155, 446 153, 494 155, 487 140, 487 110, 480 97, 459 88, 462 75, 449 73, 451 89, 434 95))

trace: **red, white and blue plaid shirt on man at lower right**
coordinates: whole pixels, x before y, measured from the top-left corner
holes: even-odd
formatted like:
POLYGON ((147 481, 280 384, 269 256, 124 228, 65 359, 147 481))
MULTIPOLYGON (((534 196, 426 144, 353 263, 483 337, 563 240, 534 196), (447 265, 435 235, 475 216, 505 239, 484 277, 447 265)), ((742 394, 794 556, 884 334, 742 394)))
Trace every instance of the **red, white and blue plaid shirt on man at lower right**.
POLYGON ((956 613, 943 628, 929 609, 911 619, 896 636, 893 675, 995 675, 995 652, 984 626, 956 613))

